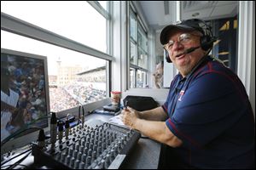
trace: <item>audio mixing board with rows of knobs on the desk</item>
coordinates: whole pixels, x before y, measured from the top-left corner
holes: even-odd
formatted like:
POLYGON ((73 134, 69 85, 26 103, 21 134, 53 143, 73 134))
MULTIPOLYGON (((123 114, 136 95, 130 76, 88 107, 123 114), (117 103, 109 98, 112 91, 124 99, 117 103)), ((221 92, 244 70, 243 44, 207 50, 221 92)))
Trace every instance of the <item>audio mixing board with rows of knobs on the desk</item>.
MULTIPOLYGON (((108 122, 93 120, 71 128, 68 138, 39 148, 32 146, 34 161, 54 168, 119 168, 140 133, 108 122)), ((46 142, 47 143, 47 142, 46 142)))

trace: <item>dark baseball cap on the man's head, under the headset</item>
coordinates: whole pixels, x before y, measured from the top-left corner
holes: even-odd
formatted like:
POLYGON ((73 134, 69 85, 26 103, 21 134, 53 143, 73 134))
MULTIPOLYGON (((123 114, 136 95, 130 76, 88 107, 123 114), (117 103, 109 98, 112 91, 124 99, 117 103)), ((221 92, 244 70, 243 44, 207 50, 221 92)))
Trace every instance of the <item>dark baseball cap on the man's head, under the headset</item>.
POLYGON ((160 42, 162 45, 165 45, 168 42, 168 35, 171 31, 176 29, 185 30, 185 31, 200 31, 205 35, 203 29, 200 26, 202 20, 190 19, 190 20, 181 20, 177 21, 176 24, 166 26, 160 33, 160 42))

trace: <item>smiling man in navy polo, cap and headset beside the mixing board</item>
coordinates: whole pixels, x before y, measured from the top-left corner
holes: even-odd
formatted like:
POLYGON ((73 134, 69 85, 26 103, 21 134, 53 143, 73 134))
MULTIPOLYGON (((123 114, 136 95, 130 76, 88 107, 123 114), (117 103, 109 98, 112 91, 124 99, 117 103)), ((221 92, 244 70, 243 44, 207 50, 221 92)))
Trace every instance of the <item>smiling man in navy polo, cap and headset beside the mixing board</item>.
POLYGON ((236 74, 207 56, 209 31, 202 20, 161 31, 160 42, 179 73, 164 105, 142 112, 128 107, 122 121, 171 146, 182 168, 253 168, 253 111, 236 74))

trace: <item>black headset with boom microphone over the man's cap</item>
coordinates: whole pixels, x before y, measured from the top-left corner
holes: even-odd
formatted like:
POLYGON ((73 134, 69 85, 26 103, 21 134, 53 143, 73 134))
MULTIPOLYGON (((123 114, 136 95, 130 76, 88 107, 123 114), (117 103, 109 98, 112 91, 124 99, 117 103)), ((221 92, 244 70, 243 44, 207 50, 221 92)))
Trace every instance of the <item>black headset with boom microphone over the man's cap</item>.
MULTIPOLYGON (((181 24, 184 21, 188 21, 188 20, 181 21, 181 24)), ((212 36, 212 27, 208 26, 207 23, 204 20, 191 19, 189 21, 195 23, 196 26, 191 26, 191 27, 195 28, 195 31, 200 31, 203 34, 203 36, 200 38, 200 46, 186 49, 183 52, 183 54, 192 53, 197 48, 202 48, 203 50, 207 51, 207 54, 209 54, 212 47, 213 47, 213 42, 215 42, 218 39, 218 37, 213 37, 212 36)), ((165 48, 164 48, 164 51, 165 51, 165 54, 166 54, 166 62, 167 63, 172 63, 172 60, 169 57, 168 51, 165 48)), ((182 54, 178 54, 177 56, 180 56, 180 55, 182 55, 182 54)))

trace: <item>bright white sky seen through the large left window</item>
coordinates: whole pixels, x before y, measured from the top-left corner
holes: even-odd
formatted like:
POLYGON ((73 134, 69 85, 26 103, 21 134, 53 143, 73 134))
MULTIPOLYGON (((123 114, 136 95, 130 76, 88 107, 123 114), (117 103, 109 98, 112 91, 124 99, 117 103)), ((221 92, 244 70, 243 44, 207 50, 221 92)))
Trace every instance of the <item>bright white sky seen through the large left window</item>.
MULTIPOLYGON (((1 1, 1 12, 102 52, 106 51, 106 20, 89 3, 1 1)), ((83 65, 84 68, 91 69, 106 64, 103 59, 96 59, 86 54, 21 37, 7 31, 1 31, 1 48, 46 56, 49 75, 56 75, 56 61, 59 59, 61 59, 61 65, 83 65)))

